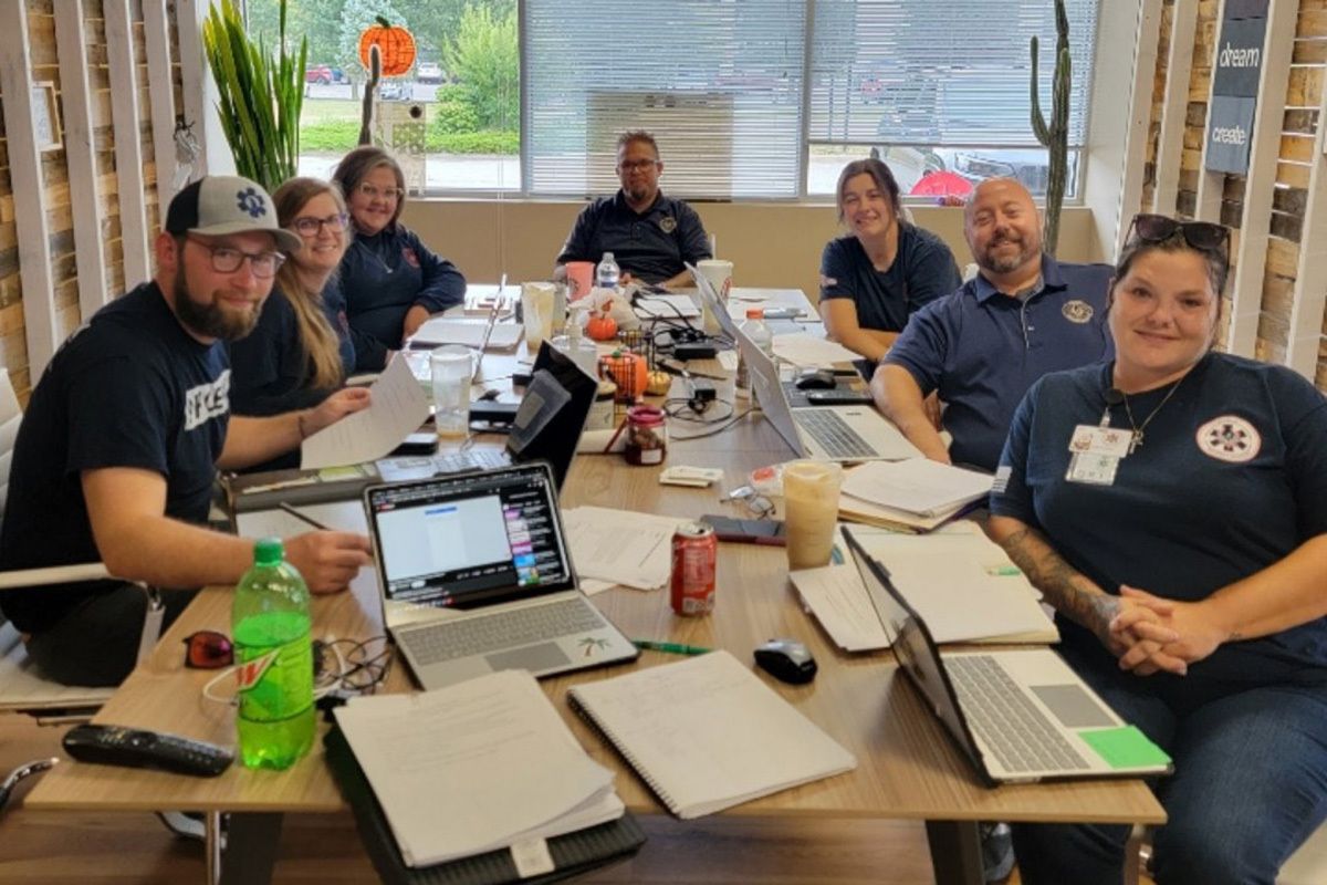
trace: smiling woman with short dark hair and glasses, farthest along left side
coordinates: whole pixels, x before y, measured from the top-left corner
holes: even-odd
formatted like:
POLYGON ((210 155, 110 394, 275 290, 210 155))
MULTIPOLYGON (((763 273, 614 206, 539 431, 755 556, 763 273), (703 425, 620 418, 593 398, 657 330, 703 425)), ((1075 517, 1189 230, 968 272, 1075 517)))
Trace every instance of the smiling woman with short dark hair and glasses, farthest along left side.
POLYGON ((405 175, 381 147, 356 147, 332 172, 350 207, 354 244, 341 261, 356 369, 380 372, 430 313, 460 304, 466 277, 401 223, 405 175))

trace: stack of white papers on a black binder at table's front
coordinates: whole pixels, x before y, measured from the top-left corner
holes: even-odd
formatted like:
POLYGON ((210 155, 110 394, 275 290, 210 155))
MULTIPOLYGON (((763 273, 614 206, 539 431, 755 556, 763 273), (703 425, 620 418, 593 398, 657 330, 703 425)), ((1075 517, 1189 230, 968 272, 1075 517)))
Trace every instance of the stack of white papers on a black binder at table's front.
POLYGON ((385 881, 557 881, 633 853, 613 772, 523 670, 337 709, 328 760, 385 881))

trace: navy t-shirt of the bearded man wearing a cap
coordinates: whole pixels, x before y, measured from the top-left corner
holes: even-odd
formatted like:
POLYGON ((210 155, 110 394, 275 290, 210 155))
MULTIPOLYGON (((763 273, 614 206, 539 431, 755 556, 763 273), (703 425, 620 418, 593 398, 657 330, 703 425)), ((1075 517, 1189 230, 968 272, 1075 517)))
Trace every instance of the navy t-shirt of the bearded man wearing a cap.
MULTIPOLYGON (((155 283, 98 310, 65 341, 19 427, 0 568, 101 560, 81 474, 139 467, 166 478, 166 515, 203 524, 230 419, 222 344, 190 337, 155 283)), ((111 582, 0 593, 20 630, 41 632, 111 582)))

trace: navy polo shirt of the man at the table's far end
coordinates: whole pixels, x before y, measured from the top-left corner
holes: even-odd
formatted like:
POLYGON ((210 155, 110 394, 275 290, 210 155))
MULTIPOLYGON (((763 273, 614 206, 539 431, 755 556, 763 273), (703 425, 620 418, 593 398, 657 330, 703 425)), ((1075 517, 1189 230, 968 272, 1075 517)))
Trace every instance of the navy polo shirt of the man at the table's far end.
POLYGON ((598 261, 604 252, 624 273, 646 283, 670 280, 710 255, 710 238, 701 216, 682 200, 660 194, 644 212, 626 204, 622 191, 601 196, 576 218, 557 264, 598 261))

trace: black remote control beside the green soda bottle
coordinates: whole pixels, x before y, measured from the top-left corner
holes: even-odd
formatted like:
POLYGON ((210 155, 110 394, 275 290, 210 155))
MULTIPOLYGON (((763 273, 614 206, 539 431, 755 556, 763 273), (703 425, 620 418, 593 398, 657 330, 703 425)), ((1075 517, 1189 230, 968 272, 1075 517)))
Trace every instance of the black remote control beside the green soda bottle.
POLYGON ((78 762, 161 768, 199 778, 215 778, 235 762, 230 750, 214 743, 122 726, 74 726, 65 734, 64 747, 78 762))

